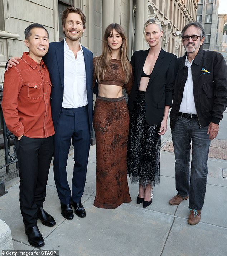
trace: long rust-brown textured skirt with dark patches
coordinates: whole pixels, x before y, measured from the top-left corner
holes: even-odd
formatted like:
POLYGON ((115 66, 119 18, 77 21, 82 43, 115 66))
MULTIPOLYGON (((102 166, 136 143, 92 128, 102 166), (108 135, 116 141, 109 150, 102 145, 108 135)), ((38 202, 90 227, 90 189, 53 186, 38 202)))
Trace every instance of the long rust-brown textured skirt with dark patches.
POLYGON ((96 196, 94 206, 114 209, 129 203, 127 139, 129 111, 124 96, 95 102, 93 125, 96 137, 96 196))

